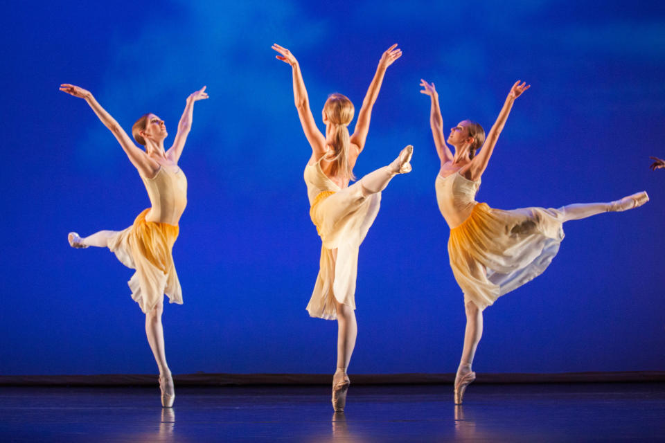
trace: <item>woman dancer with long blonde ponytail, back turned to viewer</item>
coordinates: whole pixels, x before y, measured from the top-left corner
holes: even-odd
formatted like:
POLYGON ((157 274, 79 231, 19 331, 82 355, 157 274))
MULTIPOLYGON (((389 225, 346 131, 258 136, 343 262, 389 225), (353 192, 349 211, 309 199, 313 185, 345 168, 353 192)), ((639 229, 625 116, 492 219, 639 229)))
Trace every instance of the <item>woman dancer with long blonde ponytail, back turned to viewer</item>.
POLYGON ((370 172, 353 185, 348 183, 355 179, 353 165, 365 145, 372 107, 384 73, 401 57, 402 51, 393 44, 381 56, 351 136, 348 132, 354 112, 351 100, 339 93, 328 97, 321 111, 326 125, 324 136, 314 122, 296 57, 278 44, 272 48, 280 54, 276 56, 278 60, 292 68, 296 109, 312 147, 304 175, 310 217, 322 245, 319 275, 307 310, 312 317, 337 318, 337 370, 332 377, 332 406, 339 412, 346 403, 350 383, 346 370, 357 336, 354 309, 358 248, 378 213, 381 191, 396 174, 411 170, 413 147, 405 147, 392 163, 370 172))

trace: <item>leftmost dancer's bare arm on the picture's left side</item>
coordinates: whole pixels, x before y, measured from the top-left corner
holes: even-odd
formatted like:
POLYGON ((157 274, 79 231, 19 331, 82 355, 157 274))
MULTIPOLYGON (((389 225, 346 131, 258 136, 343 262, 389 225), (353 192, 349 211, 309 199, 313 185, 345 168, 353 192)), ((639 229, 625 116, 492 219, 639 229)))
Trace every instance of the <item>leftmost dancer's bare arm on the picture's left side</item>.
POLYGON ((116 137, 116 140, 118 140, 121 147, 123 147, 125 154, 130 158, 132 165, 139 170, 139 174, 143 175, 143 177, 154 176, 154 173, 159 169, 159 163, 150 159, 148 154, 145 154, 145 151, 134 144, 121 125, 119 125, 111 114, 109 114, 102 105, 95 100, 90 91, 69 83, 61 84, 60 91, 85 100, 95 114, 97 114, 102 123, 104 123, 104 125, 109 128, 109 131, 111 131, 116 137))

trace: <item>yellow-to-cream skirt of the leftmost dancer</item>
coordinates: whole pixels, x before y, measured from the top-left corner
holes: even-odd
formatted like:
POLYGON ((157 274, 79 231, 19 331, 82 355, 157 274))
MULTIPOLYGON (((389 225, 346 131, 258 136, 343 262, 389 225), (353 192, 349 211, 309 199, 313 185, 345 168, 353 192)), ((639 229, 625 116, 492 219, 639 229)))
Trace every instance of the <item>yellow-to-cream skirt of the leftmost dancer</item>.
POLYGON ((150 209, 143 210, 129 228, 109 239, 109 249, 125 266, 136 269, 127 284, 141 311, 148 313, 163 300, 182 304, 182 289, 173 264, 172 248, 178 226, 145 221, 150 209))

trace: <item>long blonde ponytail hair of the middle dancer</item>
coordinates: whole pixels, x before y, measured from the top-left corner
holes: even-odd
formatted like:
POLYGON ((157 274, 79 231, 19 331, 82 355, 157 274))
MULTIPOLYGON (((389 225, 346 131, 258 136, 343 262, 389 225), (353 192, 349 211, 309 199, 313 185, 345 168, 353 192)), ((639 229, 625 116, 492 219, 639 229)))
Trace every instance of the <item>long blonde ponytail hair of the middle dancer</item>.
POLYGON ((328 160, 334 161, 332 165, 332 174, 341 173, 349 180, 355 180, 353 168, 348 163, 348 147, 351 145, 348 134, 348 124, 353 120, 353 103, 346 96, 340 93, 332 93, 328 96, 326 104, 323 105, 323 112, 326 113, 330 124, 332 125, 331 143, 333 154, 328 160))

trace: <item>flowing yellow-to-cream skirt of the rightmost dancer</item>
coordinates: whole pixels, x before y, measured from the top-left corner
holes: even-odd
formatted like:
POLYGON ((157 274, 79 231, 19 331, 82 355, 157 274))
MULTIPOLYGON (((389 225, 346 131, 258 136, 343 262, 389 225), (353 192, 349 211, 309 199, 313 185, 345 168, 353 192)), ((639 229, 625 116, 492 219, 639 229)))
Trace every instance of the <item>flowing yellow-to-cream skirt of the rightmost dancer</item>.
POLYGON ((562 213, 549 208, 500 210, 479 203, 450 230, 448 256, 464 302, 480 309, 540 275, 559 250, 562 213))

